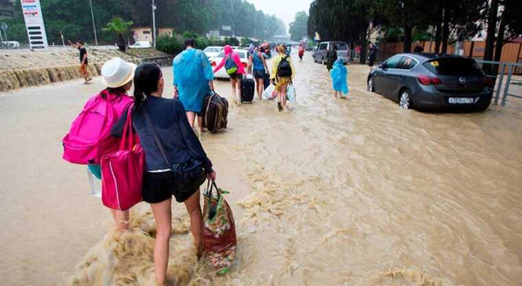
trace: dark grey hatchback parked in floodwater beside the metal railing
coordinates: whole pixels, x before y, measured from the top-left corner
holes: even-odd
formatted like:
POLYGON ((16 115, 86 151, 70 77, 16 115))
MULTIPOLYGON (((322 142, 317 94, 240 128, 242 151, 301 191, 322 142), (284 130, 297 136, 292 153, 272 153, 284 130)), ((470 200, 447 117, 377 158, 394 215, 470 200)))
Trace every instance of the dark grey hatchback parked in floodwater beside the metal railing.
POLYGON ((493 81, 473 58, 397 54, 372 69, 367 89, 391 98, 402 109, 482 111, 490 106, 493 81))

